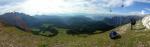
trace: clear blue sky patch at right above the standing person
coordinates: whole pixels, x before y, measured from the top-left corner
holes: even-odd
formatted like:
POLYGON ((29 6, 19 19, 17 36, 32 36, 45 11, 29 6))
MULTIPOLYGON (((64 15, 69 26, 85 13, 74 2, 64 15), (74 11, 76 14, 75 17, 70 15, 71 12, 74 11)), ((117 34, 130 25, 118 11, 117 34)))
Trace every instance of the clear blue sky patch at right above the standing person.
POLYGON ((150 3, 144 3, 144 2, 134 2, 133 5, 122 8, 122 7, 117 7, 114 8, 113 10, 115 12, 121 12, 121 13, 140 13, 144 11, 145 14, 150 14, 150 3))

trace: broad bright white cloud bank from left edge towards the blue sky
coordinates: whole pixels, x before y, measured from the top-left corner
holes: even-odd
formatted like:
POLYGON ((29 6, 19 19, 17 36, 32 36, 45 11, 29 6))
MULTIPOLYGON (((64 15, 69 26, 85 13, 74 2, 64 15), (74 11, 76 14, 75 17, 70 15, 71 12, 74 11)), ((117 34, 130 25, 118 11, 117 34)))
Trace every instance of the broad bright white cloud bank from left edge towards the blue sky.
MULTIPOLYGON (((22 12, 30 15, 57 13, 108 13, 109 8, 131 6, 139 0, 1 0, 0 14, 22 12)), ((148 1, 148 0, 145 0, 148 1)))

